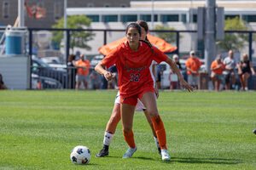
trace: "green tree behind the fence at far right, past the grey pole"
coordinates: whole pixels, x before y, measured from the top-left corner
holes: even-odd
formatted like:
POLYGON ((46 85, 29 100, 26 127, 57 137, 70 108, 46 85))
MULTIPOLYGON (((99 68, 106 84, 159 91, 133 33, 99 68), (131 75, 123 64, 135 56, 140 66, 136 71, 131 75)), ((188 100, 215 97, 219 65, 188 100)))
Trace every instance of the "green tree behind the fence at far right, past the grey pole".
MULTIPOLYGON (((225 31, 248 31, 249 29, 245 25, 244 20, 240 20, 238 17, 224 21, 225 31)), ((217 42, 217 47, 223 49, 224 51, 229 51, 233 49, 239 51, 245 46, 248 41, 247 33, 225 33, 224 40, 217 42)))

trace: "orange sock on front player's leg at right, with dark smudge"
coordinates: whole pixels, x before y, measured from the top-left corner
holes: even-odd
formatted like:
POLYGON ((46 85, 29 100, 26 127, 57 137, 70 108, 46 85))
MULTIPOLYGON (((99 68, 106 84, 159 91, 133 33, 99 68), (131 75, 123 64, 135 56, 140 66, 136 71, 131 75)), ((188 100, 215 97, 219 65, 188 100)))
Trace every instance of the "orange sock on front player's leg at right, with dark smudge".
POLYGON ((153 122, 154 131, 158 138, 161 149, 166 149, 166 130, 164 127, 164 123, 162 122, 160 116, 154 116, 151 118, 153 122))

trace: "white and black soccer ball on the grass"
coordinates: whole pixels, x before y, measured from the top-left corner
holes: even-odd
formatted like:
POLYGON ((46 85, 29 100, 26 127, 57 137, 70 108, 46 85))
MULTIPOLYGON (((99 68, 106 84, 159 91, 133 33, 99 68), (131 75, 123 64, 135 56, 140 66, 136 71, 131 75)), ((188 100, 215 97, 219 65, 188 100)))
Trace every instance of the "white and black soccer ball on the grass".
POLYGON ((74 164, 85 165, 90 161, 90 150, 86 146, 76 146, 70 154, 70 159, 74 164))

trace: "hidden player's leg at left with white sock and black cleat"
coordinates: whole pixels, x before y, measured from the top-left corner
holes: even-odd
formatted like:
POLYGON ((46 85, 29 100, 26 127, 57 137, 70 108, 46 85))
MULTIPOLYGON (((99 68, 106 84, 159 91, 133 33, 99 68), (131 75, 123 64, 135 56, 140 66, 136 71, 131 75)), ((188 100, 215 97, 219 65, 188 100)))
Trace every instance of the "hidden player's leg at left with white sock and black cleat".
POLYGON ((113 105, 113 111, 112 111, 110 119, 108 120, 106 131, 104 133, 103 148, 96 155, 96 157, 108 156, 108 148, 109 148, 109 145, 110 145, 110 143, 111 143, 111 141, 113 139, 113 134, 115 132, 115 129, 116 129, 120 119, 121 119, 121 116, 120 116, 120 104, 119 103, 115 103, 113 105))

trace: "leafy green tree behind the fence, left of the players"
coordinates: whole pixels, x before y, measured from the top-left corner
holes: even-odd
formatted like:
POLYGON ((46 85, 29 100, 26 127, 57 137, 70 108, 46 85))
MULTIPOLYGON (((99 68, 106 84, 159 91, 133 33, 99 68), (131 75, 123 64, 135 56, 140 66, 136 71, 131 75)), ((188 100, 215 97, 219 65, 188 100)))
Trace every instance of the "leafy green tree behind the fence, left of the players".
MULTIPOLYGON (((57 23, 52 26, 53 28, 63 28, 64 27, 64 19, 57 20, 57 23)), ((83 29, 84 26, 90 26, 91 20, 84 15, 72 15, 67 18, 67 28, 73 29, 83 29)), ((53 41, 57 42, 57 44, 61 44, 61 40, 63 39, 63 31, 54 31, 53 41)), ((90 50, 90 46, 87 44, 90 40, 95 36, 94 33, 90 31, 71 31, 70 33, 70 48, 79 47, 90 50)))

